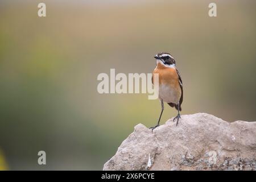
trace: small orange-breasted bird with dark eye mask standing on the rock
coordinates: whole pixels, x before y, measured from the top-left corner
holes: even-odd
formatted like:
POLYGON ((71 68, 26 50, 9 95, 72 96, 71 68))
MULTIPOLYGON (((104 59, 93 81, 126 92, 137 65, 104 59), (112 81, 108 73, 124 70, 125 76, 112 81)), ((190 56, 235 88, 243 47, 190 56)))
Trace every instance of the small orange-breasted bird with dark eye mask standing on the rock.
POLYGON ((167 102, 171 107, 177 109, 178 114, 174 118, 177 120, 176 126, 179 122, 181 104, 183 101, 183 85, 179 71, 176 69, 176 61, 170 53, 160 52, 154 56, 156 59, 156 68, 152 74, 152 84, 154 84, 154 75, 159 75, 159 100, 161 102, 161 113, 158 119, 158 123, 154 127, 150 127, 152 131, 159 126, 159 122, 164 110, 164 102, 167 102))

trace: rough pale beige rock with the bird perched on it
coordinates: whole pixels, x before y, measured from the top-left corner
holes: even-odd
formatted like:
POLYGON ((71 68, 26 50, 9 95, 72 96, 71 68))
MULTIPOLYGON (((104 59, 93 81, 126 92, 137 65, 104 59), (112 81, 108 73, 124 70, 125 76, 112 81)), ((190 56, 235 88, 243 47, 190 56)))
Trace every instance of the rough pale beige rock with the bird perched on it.
POLYGON ((134 127, 104 170, 256 170, 256 122, 210 114, 169 119, 153 133, 134 127))

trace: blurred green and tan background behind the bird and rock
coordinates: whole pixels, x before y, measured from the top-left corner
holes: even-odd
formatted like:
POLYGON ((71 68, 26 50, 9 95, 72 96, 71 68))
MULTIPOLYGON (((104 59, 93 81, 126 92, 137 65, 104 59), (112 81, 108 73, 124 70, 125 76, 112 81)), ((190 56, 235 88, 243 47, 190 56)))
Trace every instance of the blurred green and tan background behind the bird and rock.
MULTIPOLYGON (((98 94, 97 76, 151 73, 160 51, 183 78, 182 114, 255 121, 255 17, 253 0, 1 0, 0 169, 102 169, 135 125, 155 125, 160 104, 98 94)), ((161 123, 174 115, 166 105, 161 123)))

